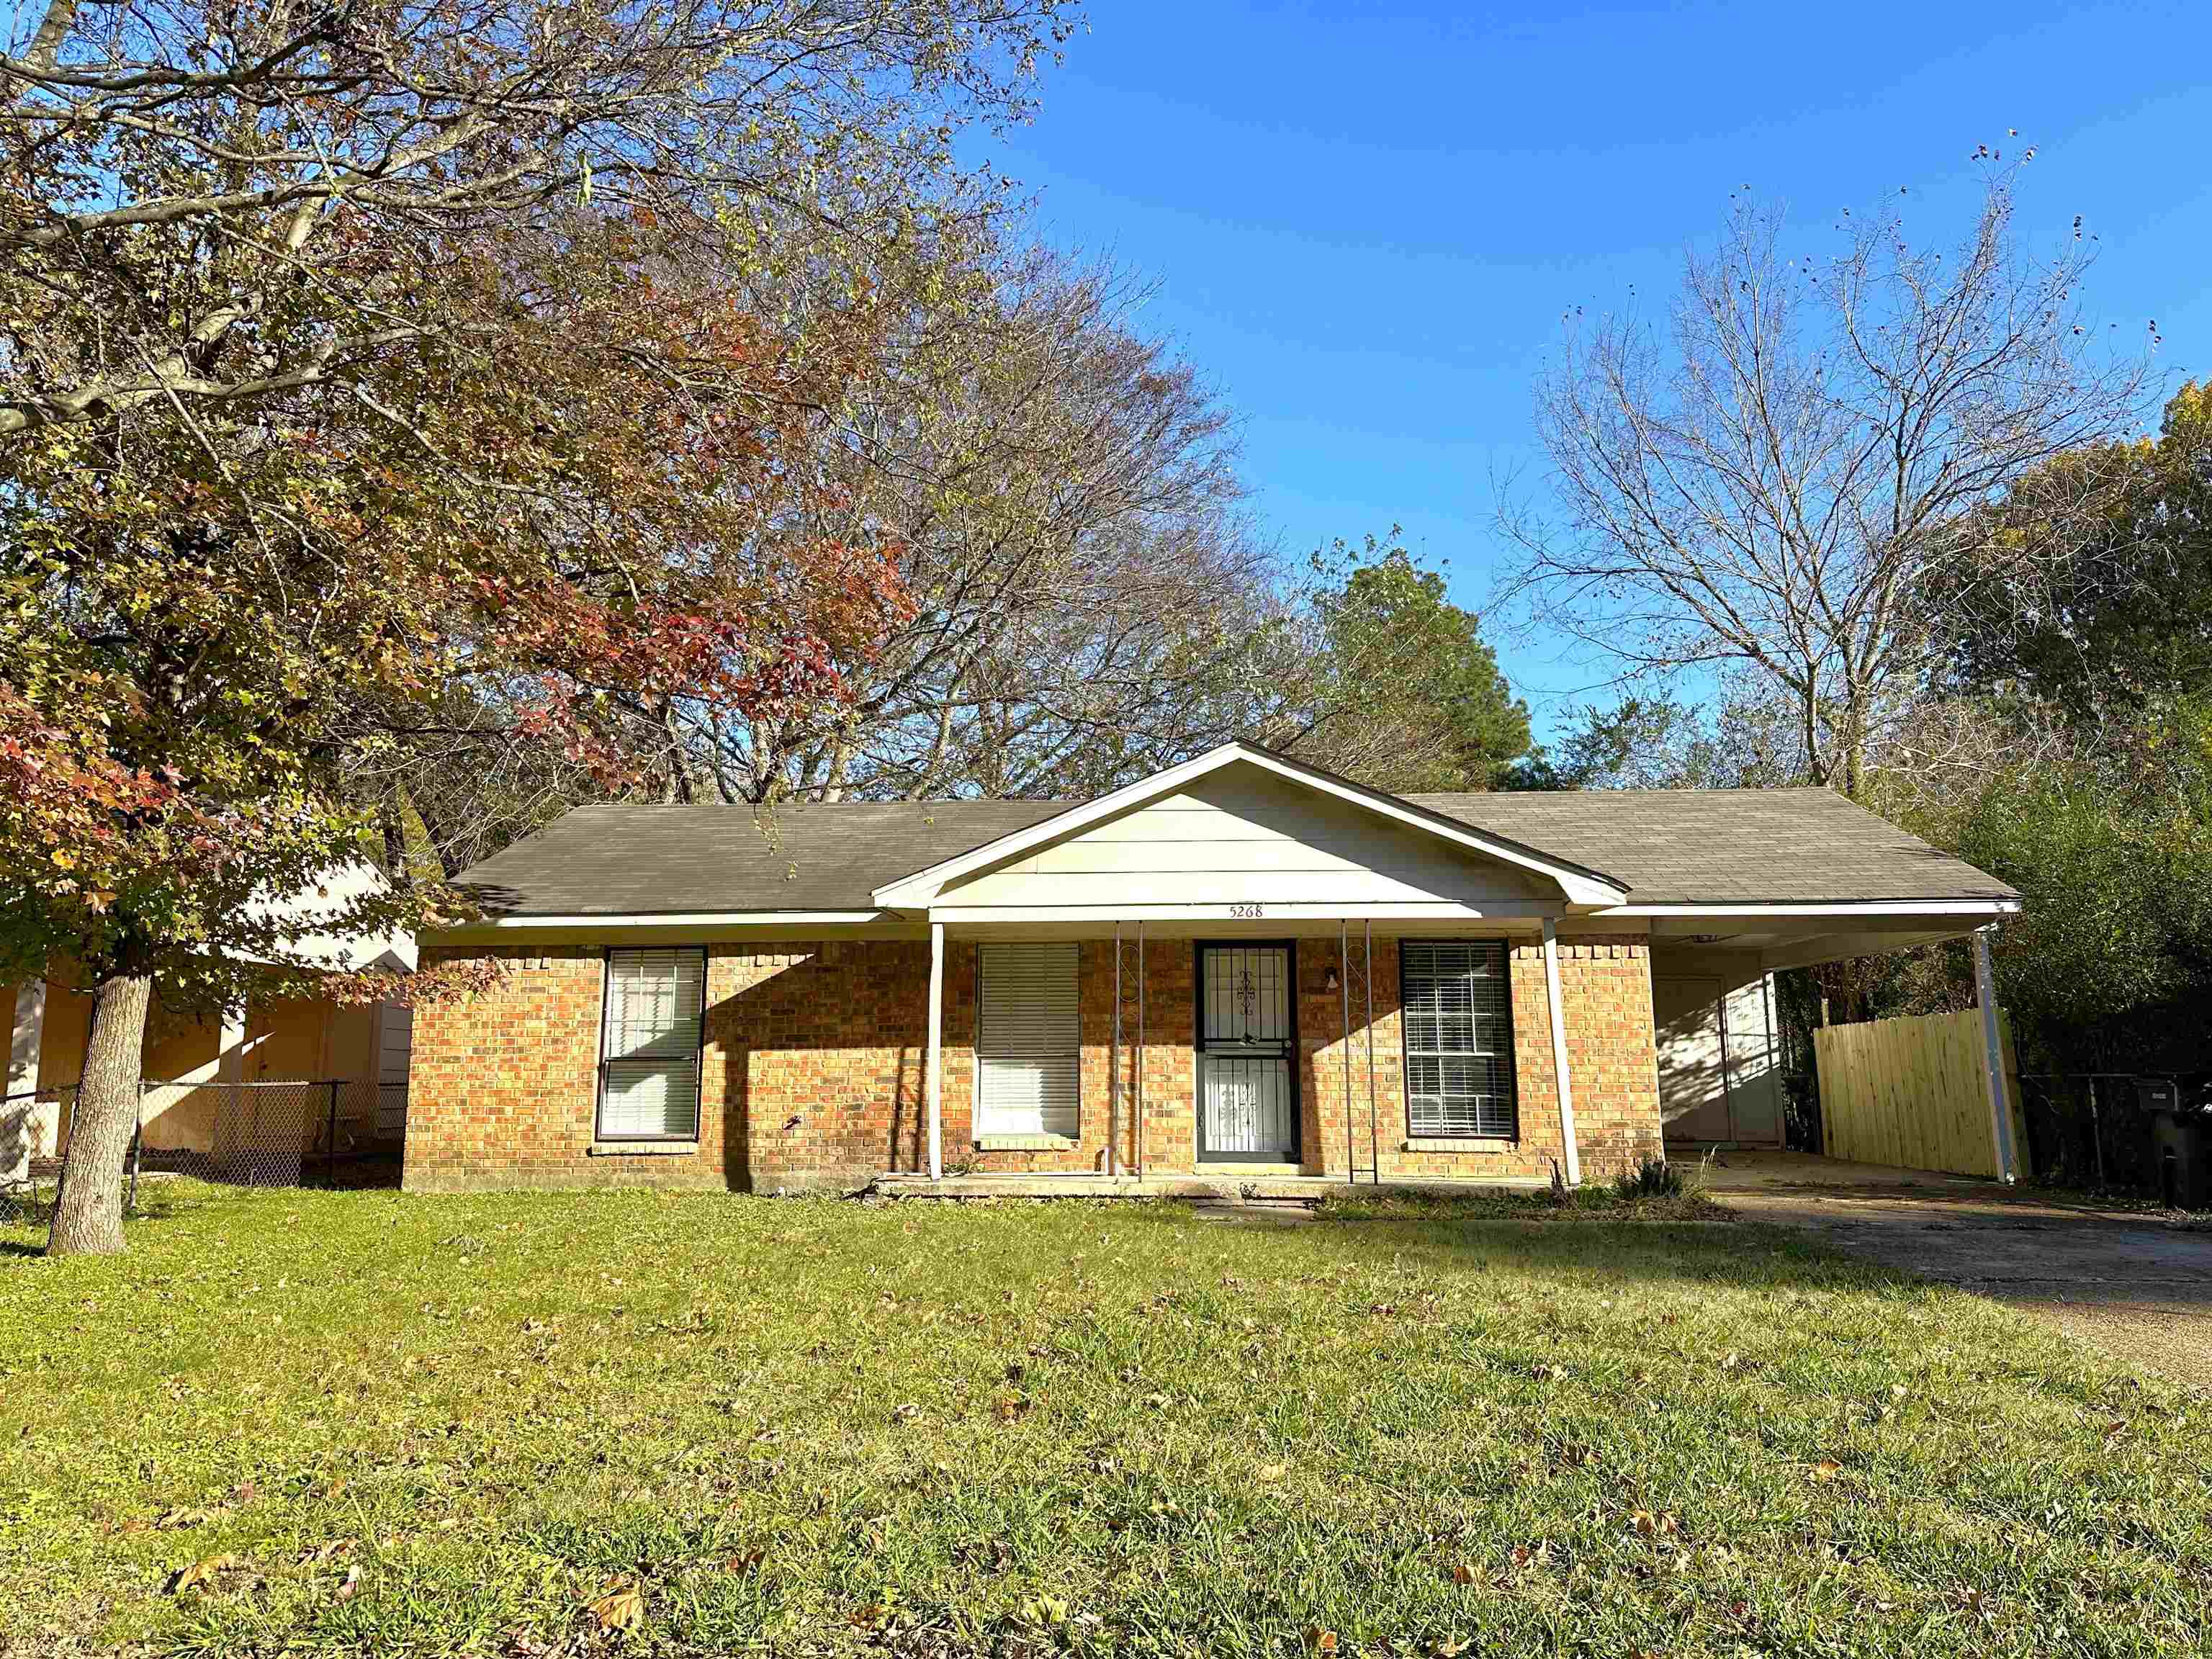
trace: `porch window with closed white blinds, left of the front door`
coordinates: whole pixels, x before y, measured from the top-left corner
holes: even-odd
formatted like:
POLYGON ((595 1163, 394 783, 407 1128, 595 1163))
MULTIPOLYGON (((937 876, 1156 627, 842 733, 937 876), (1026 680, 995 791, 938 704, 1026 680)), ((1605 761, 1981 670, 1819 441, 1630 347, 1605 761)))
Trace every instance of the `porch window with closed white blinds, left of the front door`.
POLYGON ((1073 945, 982 945, 975 989, 975 1133, 1079 1126, 1082 1029, 1073 945))

